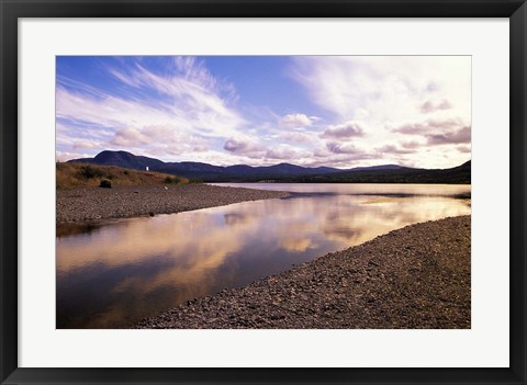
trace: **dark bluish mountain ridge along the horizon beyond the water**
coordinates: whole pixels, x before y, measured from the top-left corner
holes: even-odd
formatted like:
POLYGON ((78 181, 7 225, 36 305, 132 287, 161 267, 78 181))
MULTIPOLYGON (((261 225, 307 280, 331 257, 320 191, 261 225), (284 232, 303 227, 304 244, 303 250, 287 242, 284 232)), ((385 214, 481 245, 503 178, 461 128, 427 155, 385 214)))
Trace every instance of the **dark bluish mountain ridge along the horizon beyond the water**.
POLYGON ((370 182, 370 183, 400 183, 390 180, 404 180, 403 183, 470 183, 470 160, 457 168, 446 170, 413 169, 397 165, 383 165, 372 167, 357 167, 343 170, 332 167, 309 168, 291 163, 253 167, 247 165, 213 166, 203 162, 181 161, 164 162, 162 160, 136 156, 127 151, 99 152, 93 158, 72 159, 69 162, 94 163, 100 166, 119 166, 135 170, 158 171, 179 177, 199 179, 204 182, 370 182), (467 166, 468 165, 468 166, 467 166), (463 168, 464 167, 464 168, 463 168), (467 168, 469 170, 467 175, 467 168), (453 170, 453 171, 448 171, 453 170), (439 173, 438 173, 439 171, 439 173), (439 174, 448 178, 434 178, 439 174), (462 174, 462 175, 461 175, 462 174), (468 178, 467 178, 468 177, 468 178), (445 180, 445 181, 442 181, 445 180), (442 182, 441 182, 442 181, 442 182))

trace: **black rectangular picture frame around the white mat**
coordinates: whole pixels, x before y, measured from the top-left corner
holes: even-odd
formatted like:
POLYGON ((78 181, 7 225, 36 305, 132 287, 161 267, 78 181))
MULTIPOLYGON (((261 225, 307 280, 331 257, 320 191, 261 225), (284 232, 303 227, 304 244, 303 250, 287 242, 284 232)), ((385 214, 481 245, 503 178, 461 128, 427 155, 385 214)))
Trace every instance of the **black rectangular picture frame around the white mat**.
MULTIPOLYGON (((525 0, 0 0, 2 384, 526 384, 525 0), (508 369, 18 367, 18 20, 20 18, 508 18, 511 48, 511 365, 508 369)), ((492 219, 490 219, 492 220, 492 219)))

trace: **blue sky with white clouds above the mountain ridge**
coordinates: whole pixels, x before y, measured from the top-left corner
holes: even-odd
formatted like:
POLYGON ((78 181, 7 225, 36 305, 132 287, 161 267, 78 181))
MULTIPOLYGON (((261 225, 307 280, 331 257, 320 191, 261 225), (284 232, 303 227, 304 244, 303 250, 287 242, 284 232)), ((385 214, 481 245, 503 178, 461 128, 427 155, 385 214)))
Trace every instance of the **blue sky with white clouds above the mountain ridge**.
POLYGON ((470 56, 57 56, 56 158, 449 168, 470 56))

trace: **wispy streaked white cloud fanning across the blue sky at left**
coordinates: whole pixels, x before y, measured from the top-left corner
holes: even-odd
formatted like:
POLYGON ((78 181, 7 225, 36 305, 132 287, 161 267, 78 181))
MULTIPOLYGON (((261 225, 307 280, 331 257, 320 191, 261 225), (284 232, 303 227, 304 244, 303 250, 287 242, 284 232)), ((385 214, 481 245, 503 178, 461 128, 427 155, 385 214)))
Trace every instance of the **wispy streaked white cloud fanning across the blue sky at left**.
POLYGON ((110 140, 100 143, 101 149, 104 145, 139 149, 158 143, 171 148, 168 154, 192 154, 206 146, 205 137, 228 137, 247 124, 229 105, 235 99, 233 88, 221 84, 193 58, 173 59, 165 75, 138 61, 131 68, 106 70, 125 86, 144 92, 143 98, 115 95, 65 77, 61 83, 76 86, 75 91, 58 86, 56 92, 56 115, 63 125, 94 124, 113 133, 110 140), (155 93, 161 98, 153 99, 155 93), (197 136, 202 139, 197 140, 197 136))

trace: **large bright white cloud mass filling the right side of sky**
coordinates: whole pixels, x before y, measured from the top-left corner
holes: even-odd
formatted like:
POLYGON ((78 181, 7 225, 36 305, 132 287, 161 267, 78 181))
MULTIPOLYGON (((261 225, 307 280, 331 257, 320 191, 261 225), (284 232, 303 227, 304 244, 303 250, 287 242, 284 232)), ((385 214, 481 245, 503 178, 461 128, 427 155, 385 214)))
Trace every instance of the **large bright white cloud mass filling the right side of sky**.
MULTIPOLYGON (((470 140, 463 127, 471 126, 471 65, 468 56, 340 56, 293 59, 292 77, 312 101, 333 121, 321 135, 333 152, 352 152, 352 146, 375 151, 414 135, 406 144, 385 147, 386 162, 404 160, 419 167, 436 162, 456 166, 466 160, 446 141, 470 140), (360 122, 359 129, 345 129, 340 122, 360 122), (410 123, 408 123, 410 122, 410 123), (352 146, 346 140, 354 139, 352 146), (410 143, 442 146, 438 154, 416 151, 410 143), (384 144, 384 145, 383 145, 384 144), (399 152, 399 154, 396 154, 399 152)), ((329 158, 327 158, 329 160, 329 158)))

